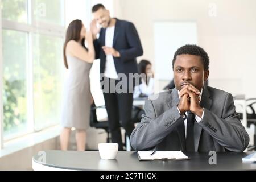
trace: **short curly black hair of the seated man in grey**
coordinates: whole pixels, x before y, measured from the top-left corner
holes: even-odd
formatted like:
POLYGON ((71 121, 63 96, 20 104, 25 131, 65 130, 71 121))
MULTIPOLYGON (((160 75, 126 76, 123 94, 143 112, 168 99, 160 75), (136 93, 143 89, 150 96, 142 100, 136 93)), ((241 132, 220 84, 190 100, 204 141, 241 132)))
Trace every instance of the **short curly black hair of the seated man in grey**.
POLYGON ((201 61, 204 65, 204 70, 209 69, 209 56, 207 55, 207 52, 205 52, 203 48, 197 45, 191 45, 191 44, 187 44, 177 49, 177 51, 174 53, 174 59, 172 60, 172 69, 174 69, 174 63, 177 55, 185 55, 185 54, 200 56, 201 61))

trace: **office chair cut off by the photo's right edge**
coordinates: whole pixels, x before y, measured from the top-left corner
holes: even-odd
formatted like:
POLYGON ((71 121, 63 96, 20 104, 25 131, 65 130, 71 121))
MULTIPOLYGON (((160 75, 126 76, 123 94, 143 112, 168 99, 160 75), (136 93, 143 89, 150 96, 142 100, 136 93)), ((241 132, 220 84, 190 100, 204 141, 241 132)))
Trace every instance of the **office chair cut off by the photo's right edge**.
POLYGON ((254 141, 253 146, 248 146, 248 151, 256 150, 256 98, 249 98, 246 100, 246 115, 247 115, 247 127, 254 125, 254 141))

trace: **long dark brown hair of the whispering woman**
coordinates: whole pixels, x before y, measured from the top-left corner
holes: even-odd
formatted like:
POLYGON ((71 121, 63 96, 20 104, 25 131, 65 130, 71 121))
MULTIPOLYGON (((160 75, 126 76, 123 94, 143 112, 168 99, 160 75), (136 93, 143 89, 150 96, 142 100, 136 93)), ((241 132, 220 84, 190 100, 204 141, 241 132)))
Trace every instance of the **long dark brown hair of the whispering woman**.
MULTIPOLYGON (((65 39, 65 43, 64 43, 64 47, 63 47, 64 65, 67 69, 68 69, 68 62, 67 62, 67 56, 66 56, 67 44, 68 44, 69 40, 79 41, 81 30, 82 30, 82 21, 81 20, 76 19, 76 20, 73 20, 71 23, 69 23, 67 33, 66 33, 66 39, 65 39)), ((84 41, 85 41, 85 38, 82 39, 82 46, 84 48, 86 48, 84 41)))

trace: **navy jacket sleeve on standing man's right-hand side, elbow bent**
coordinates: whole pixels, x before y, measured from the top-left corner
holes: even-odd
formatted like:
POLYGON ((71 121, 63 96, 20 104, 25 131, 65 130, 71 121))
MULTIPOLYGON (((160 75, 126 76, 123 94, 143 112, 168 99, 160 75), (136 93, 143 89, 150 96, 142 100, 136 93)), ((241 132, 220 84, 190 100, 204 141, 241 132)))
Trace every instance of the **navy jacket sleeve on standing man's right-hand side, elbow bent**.
POLYGON ((122 61, 133 60, 135 57, 143 54, 141 40, 139 39, 138 32, 133 23, 129 23, 126 30, 126 39, 129 44, 129 49, 118 50, 122 61))

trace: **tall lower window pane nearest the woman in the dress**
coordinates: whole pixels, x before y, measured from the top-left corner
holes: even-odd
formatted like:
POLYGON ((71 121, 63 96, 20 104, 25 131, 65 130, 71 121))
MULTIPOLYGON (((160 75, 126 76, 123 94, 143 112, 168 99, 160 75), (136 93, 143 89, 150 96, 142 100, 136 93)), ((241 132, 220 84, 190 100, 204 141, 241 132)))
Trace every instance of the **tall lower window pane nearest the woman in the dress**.
POLYGON ((63 39, 33 35, 35 130, 60 122, 63 39))

